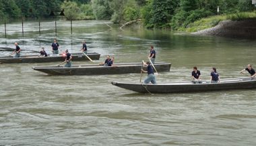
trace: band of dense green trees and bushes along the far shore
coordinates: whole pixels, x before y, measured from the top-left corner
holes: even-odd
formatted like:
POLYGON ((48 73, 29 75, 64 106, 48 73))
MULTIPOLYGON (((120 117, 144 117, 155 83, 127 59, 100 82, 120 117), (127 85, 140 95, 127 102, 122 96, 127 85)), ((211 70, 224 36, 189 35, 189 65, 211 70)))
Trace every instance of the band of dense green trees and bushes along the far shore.
MULTIPOLYGON (((251 0, 0 0, 0 19, 47 18, 64 9, 66 19, 106 19, 124 23, 142 19, 148 28, 187 28, 203 17, 253 11, 251 0)), ((217 23, 217 22, 216 22, 217 23)))

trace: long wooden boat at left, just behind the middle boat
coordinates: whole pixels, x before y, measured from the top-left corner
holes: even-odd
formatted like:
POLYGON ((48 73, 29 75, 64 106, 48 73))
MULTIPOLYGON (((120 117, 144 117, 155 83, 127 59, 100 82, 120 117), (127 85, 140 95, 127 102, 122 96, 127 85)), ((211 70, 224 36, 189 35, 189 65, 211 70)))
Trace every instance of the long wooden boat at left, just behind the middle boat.
MULTIPOLYGON (((88 53, 88 56, 92 60, 99 60, 100 54, 93 52, 88 53)), ((82 61, 82 60, 88 60, 86 56, 82 53, 73 53, 72 54, 72 60, 73 61, 82 61)), ((42 57, 38 55, 24 55, 20 58, 13 58, 11 56, 2 56, 0 57, 1 63, 38 63, 38 62, 63 62, 65 61, 65 57, 62 56, 62 54, 59 54, 57 56, 47 56, 42 57)))

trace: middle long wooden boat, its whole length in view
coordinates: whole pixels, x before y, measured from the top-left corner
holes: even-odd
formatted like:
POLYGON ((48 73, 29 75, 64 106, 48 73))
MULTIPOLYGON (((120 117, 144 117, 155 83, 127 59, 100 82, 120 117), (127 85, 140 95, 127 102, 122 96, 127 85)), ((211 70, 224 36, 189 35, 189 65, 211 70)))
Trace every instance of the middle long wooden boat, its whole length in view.
MULTIPOLYGON (((170 63, 156 62, 154 64, 158 72, 169 72, 170 63)), ((96 75, 96 74, 128 74, 139 73, 141 62, 139 63, 119 63, 115 66, 99 66, 98 64, 73 65, 71 68, 63 66, 34 66, 34 70, 52 75, 96 75)), ((146 68, 145 68, 146 70, 146 68)))

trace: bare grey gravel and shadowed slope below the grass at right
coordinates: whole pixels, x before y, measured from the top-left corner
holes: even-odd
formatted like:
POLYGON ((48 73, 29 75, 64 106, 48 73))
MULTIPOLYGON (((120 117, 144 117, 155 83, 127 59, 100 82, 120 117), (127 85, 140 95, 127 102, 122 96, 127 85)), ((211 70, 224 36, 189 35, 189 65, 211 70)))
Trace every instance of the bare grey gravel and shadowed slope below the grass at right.
POLYGON ((197 31, 198 35, 218 35, 228 38, 256 38, 256 19, 220 21, 215 27, 197 31))

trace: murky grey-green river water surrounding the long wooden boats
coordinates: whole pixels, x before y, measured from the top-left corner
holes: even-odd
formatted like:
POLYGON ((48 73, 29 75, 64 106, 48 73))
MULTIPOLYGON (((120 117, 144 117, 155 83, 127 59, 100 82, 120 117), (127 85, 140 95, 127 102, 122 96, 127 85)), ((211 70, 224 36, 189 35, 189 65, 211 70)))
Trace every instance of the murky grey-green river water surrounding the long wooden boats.
MULTIPOLYGON (((0 47, 19 42, 24 50, 44 47, 50 53, 55 22, 42 22, 41 36, 38 22, 25 22, 24 37, 21 23, 7 24, 7 39, 0 25, 0 36, 0 47)), ((137 27, 121 31, 107 21, 73 21, 72 35, 69 21, 57 21, 57 40, 61 51, 71 52, 86 40, 100 61, 110 54, 115 62, 147 60, 154 45, 157 60, 172 63, 158 82, 190 80, 193 66, 205 80, 213 66, 221 78, 241 77, 239 71, 256 62, 255 40, 137 27)), ((139 94, 110 82, 139 82, 140 74, 49 76, 31 68, 52 64, 59 62, 0 64, 0 145, 255 145, 254 89, 139 94)))

